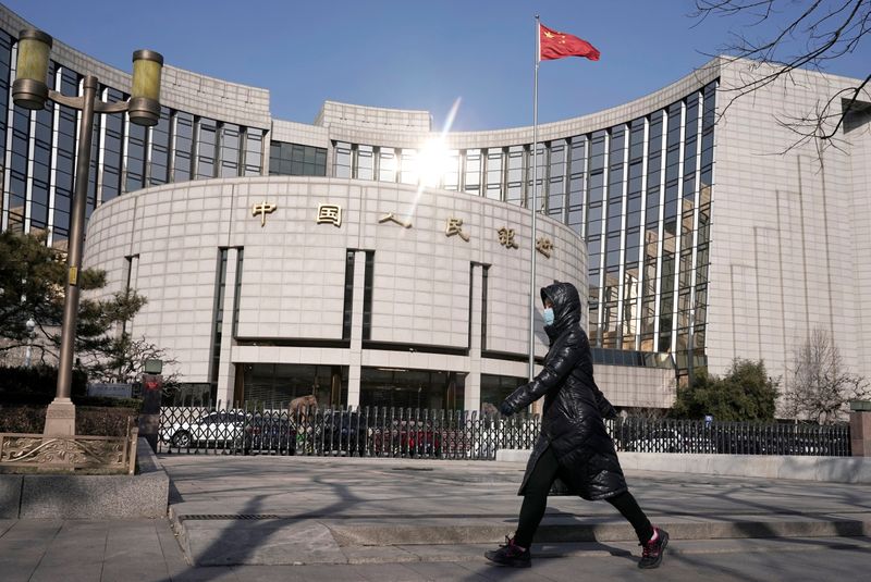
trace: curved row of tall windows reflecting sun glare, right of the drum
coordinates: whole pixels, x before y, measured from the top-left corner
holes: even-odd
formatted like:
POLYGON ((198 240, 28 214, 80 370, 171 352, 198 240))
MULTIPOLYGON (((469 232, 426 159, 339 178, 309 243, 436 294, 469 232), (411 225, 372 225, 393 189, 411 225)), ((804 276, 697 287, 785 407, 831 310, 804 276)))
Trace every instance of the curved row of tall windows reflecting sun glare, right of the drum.
POLYGON ((529 207, 587 240, 593 345, 703 350, 716 83, 650 115, 539 144, 439 150, 334 143, 333 175, 529 207))

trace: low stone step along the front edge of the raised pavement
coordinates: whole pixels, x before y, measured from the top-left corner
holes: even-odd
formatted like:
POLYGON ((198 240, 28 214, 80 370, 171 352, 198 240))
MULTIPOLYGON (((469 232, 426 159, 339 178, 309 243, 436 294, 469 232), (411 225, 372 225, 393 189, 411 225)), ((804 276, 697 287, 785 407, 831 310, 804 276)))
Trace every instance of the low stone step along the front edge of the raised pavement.
MULTIPOLYGON (((478 559, 482 548, 503 542, 514 528, 507 516, 183 515, 171 507, 170 517, 188 561, 196 566, 464 561, 478 559)), ((657 524, 678 545, 710 540, 871 536, 871 512, 863 511, 672 516, 657 524)), ((626 553, 637 545, 631 528, 618 517, 548 515, 536 540, 540 545, 537 555, 542 557, 592 550, 613 554, 614 547, 626 553)))

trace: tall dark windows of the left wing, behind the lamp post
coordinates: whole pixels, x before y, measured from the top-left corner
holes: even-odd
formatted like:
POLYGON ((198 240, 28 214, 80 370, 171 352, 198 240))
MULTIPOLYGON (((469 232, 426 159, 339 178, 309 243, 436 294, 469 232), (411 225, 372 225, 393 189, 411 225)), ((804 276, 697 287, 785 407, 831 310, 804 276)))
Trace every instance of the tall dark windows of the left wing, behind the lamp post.
MULTIPOLYGON (((77 148, 77 112, 49 101, 30 112, 10 98, 15 47, 0 32, 0 164, 2 227, 49 231, 49 242, 69 236, 77 148)), ((81 94, 82 75, 51 62, 49 87, 81 94)), ((98 98, 123 101, 127 95, 101 86, 98 98)), ((244 127, 161 108, 159 123, 142 127, 125 114, 95 116, 87 215, 123 193, 171 182, 262 174, 263 134, 244 127)))

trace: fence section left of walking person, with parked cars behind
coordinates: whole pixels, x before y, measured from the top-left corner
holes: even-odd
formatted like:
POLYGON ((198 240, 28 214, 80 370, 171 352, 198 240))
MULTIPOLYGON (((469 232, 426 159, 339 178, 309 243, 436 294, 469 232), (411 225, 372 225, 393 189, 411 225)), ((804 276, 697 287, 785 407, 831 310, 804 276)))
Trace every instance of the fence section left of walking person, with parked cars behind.
POLYGON ((495 459, 531 448, 537 416, 409 408, 163 408, 158 450, 229 455, 345 455, 495 459))

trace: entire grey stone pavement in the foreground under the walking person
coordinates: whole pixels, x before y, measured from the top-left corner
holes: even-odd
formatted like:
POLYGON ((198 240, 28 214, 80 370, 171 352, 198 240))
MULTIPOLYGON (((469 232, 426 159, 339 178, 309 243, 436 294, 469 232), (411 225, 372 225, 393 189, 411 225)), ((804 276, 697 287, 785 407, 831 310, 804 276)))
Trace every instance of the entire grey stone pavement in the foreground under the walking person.
POLYGON ((162 456, 170 520, 0 520, 0 580, 852 580, 871 485, 627 472, 672 543, 635 567, 604 503, 552 497, 530 570, 482 559, 516 524, 523 465, 162 456), (173 532, 174 528, 174 532, 173 532))

